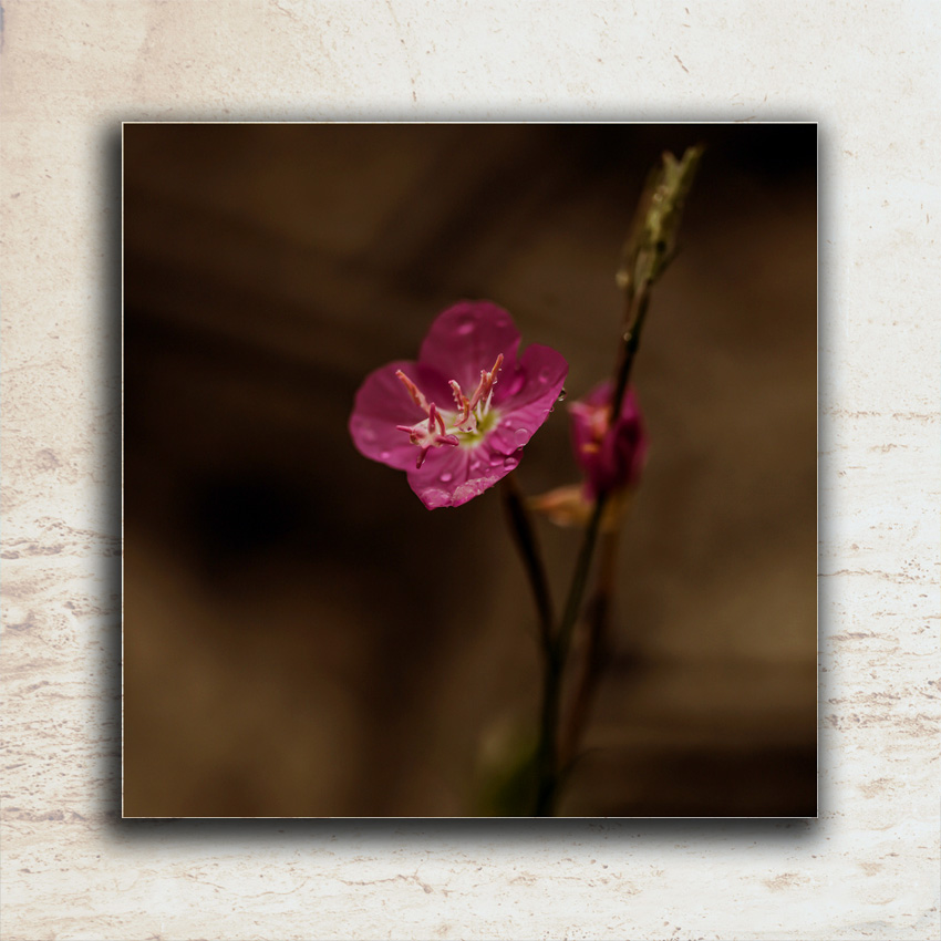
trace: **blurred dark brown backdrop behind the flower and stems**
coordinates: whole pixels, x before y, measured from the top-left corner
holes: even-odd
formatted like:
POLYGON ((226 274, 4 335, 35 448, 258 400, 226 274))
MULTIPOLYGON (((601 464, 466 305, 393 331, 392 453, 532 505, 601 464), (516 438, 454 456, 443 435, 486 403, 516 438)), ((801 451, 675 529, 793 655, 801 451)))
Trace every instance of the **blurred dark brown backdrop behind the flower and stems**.
MULTIPOLYGON (((648 169, 707 145, 634 381, 652 438, 563 815, 816 813, 814 125, 124 128, 124 813, 474 813, 535 715, 495 492, 361 457, 364 375, 461 298, 610 371, 648 169), (430 580, 461 583, 430 610, 430 580)), ((576 479, 558 407, 530 493, 576 479)), ((557 586, 578 538, 540 525, 557 586)))

